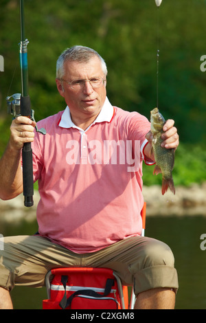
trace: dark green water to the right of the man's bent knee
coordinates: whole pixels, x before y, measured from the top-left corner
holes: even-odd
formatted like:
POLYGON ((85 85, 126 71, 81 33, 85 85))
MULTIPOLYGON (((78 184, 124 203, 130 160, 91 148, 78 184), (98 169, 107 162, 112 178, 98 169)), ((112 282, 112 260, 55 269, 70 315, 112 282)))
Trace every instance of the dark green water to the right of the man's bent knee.
POLYGON ((176 309, 206 309, 206 251, 201 234, 206 232, 203 216, 150 218, 147 234, 170 245, 179 274, 176 309))

